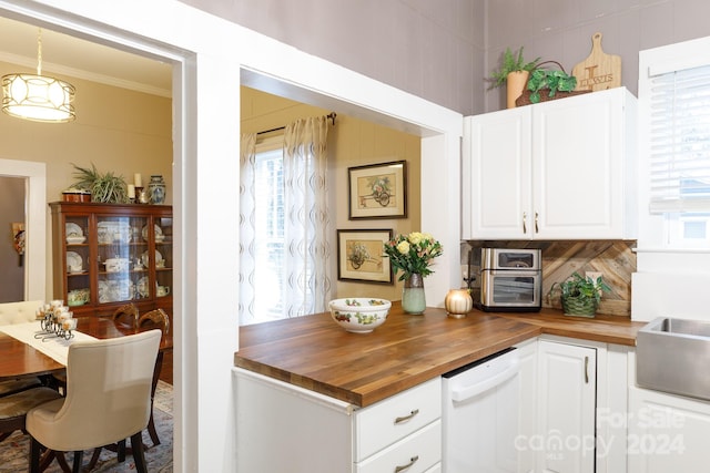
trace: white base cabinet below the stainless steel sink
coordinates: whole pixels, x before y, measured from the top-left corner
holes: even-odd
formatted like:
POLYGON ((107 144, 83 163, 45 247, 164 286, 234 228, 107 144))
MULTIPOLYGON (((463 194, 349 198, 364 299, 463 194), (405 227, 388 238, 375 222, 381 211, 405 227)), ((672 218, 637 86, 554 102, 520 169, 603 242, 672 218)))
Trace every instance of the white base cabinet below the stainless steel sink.
POLYGON ((635 364, 630 357, 629 473, 708 471, 710 402, 638 388, 635 364))

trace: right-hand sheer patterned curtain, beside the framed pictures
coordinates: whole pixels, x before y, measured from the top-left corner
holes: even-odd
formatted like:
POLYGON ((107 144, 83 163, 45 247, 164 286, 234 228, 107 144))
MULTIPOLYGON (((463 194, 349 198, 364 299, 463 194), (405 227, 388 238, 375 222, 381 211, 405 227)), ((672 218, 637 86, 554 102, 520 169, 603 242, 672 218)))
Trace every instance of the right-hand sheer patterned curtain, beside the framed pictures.
POLYGON ((284 134, 286 317, 322 312, 331 292, 327 117, 302 119, 284 134))

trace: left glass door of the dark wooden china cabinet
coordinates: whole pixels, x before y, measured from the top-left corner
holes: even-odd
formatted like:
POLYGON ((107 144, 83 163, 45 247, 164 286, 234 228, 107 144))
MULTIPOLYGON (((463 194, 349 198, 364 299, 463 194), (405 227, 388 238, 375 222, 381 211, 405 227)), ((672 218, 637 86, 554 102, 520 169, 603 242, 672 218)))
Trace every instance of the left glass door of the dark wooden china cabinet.
POLYGON ((89 216, 67 216, 63 228, 63 240, 67 245, 67 261, 63 270, 67 281, 64 285, 67 305, 83 306, 91 300, 89 216))

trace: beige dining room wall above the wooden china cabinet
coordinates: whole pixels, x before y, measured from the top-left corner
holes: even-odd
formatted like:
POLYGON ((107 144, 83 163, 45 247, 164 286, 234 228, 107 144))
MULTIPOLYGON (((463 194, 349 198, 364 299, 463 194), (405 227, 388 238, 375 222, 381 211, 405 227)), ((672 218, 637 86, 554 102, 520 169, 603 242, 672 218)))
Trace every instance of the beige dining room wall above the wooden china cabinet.
MULTIPOLYGON (((0 62, 0 75, 23 71, 0 62)), ((51 75, 51 71, 43 71, 51 75)), ((74 163, 95 164, 98 171, 112 171, 130 184, 141 173, 144 185, 151 174, 162 174, 168 185, 168 204, 172 204, 172 101, 126 89, 79 80, 77 120, 65 124, 29 122, 0 113, 0 158, 47 164, 47 199, 60 200, 62 191, 74 181, 74 163)), ((2 169, 0 169, 2 174, 2 169)), ((2 205, 2 203, 0 203, 2 205)), ((47 208, 47 258, 52 267, 51 225, 47 208)), ((1 230, 0 230, 1 232, 1 230)), ((51 271, 47 299, 52 298, 51 271)))

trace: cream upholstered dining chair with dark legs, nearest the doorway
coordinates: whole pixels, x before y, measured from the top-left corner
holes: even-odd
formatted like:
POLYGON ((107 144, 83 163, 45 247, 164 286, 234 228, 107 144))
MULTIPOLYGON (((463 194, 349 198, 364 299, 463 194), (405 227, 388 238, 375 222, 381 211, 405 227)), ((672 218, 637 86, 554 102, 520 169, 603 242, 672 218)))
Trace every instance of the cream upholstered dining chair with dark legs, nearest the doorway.
POLYGON ((151 414, 151 385, 161 331, 150 330, 108 340, 77 341, 67 358, 67 398, 27 413, 31 435, 30 471, 40 471, 42 446, 82 452, 131 439, 139 472, 146 472, 142 431, 151 414))

